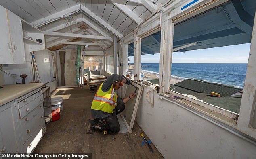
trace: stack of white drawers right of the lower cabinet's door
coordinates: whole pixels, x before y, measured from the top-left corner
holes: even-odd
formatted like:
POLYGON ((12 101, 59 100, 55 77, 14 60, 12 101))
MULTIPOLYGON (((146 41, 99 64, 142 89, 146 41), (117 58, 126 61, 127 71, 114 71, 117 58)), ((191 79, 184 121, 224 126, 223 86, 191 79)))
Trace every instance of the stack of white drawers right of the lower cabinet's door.
POLYGON ((41 88, 15 100, 22 152, 32 153, 46 132, 41 88))

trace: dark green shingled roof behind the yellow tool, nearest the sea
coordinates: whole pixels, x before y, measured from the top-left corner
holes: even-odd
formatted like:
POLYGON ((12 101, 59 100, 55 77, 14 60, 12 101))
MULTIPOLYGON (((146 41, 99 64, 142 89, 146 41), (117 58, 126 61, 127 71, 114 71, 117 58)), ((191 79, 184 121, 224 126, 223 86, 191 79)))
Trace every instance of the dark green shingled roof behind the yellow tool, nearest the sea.
POLYGON ((214 83, 193 80, 193 79, 187 79, 187 80, 178 82, 174 85, 197 92, 197 93, 206 93, 206 94, 210 94, 211 92, 219 93, 220 97, 227 97, 237 92, 240 92, 242 90, 242 89, 234 88, 231 86, 214 84, 214 83))

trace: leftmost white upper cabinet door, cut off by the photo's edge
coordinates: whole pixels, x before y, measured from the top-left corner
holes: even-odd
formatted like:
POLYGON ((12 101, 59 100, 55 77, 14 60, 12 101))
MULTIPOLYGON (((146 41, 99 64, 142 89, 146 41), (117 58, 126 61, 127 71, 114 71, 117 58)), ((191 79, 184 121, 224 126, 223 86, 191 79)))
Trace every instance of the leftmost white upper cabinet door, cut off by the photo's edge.
POLYGON ((13 63, 12 43, 8 27, 7 10, 0 6, 0 64, 13 63))

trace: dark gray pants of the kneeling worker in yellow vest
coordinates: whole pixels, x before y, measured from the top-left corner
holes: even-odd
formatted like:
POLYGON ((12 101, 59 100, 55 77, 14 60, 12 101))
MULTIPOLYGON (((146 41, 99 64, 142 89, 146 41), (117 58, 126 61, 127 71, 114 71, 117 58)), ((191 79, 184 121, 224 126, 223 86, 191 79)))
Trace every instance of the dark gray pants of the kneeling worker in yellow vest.
POLYGON ((108 133, 109 134, 113 134, 113 133, 118 133, 120 130, 120 125, 118 122, 118 118, 117 118, 117 114, 119 114, 120 112, 122 112, 125 109, 125 105, 122 104, 118 104, 115 109, 114 112, 108 116, 107 118, 105 118, 106 123, 109 126, 109 130, 108 133))

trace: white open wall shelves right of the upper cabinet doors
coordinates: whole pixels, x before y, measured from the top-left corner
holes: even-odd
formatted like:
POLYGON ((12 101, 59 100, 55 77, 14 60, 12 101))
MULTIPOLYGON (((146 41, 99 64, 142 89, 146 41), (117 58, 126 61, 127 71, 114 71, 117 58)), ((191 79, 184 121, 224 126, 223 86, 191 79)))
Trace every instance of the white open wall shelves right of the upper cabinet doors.
POLYGON ((42 33, 42 31, 31 26, 25 20, 22 20, 22 29, 23 29, 23 40, 25 45, 29 45, 28 46, 29 52, 45 49, 44 33, 42 33), (40 39, 42 43, 36 41, 37 39, 40 39))

